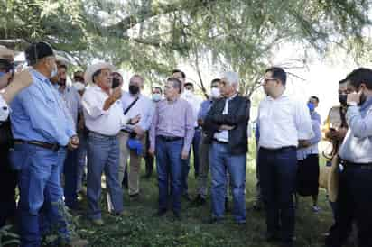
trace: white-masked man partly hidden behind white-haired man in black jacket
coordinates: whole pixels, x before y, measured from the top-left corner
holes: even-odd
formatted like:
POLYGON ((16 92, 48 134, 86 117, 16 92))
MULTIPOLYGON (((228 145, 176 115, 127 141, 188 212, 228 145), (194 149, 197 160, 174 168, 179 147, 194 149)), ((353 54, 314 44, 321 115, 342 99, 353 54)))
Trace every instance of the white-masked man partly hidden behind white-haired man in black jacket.
MULTIPOLYGON (((198 114, 198 124, 203 129, 204 119, 207 116, 210 107, 221 97, 219 91, 219 78, 215 78, 210 83, 209 99, 203 101, 200 105, 198 114)), ((197 197, 192 201, 192 206, 202 206, 206 203, 207 188, 208 188, 208 172, 209 172, 209 148, 210 144, 204 142, 206 133, 202 131, 199 146, 199 176, 197 179, 197 197)))

